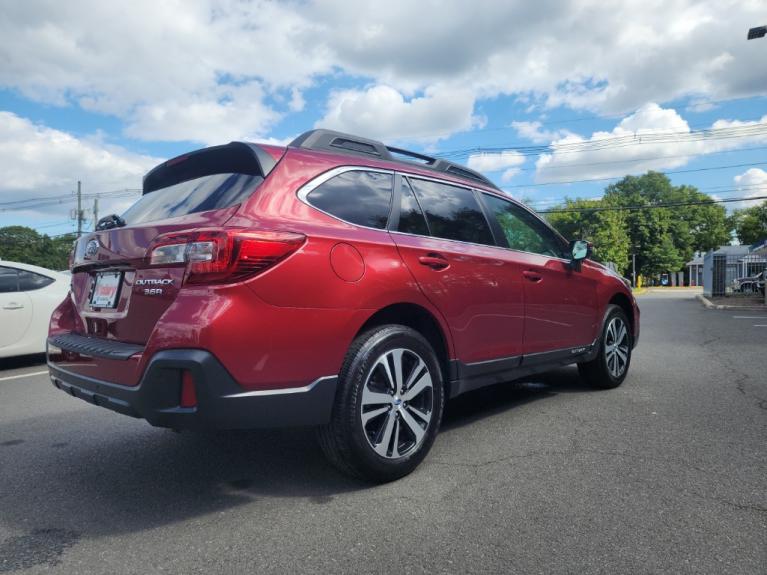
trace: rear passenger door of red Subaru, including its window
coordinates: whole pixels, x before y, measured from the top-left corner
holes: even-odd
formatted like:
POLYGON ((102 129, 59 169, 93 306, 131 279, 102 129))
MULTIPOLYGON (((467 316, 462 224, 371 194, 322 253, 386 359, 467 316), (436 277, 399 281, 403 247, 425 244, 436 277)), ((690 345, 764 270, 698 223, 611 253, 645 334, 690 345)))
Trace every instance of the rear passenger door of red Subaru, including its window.
POLYGON ((464 364, 522 352, 522 288, 474 192, 398 176, 392 238, 424 295, 445 317, 464 364))

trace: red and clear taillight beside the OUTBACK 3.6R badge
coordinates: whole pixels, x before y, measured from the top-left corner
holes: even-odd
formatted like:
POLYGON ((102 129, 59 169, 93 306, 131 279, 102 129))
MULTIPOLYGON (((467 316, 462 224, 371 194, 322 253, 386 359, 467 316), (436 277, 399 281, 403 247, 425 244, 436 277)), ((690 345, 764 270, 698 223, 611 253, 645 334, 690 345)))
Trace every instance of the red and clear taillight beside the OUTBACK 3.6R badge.
POLYGON ((153 266, 185 263, 187 283, 226 283, 266 270, 305 240, 292 232, 195 230, 158 237, 148 259, 153 266))

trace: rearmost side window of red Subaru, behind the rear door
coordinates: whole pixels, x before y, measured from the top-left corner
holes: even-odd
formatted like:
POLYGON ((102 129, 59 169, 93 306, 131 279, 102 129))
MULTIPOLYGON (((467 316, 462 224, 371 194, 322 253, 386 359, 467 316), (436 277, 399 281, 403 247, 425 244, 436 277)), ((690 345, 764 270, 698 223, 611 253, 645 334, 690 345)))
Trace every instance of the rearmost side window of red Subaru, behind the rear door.
POLYGON ((391 174, 354 170, 320 184, 306 199, 344 221, 384 229, 389 221, 391 189, 391 174))

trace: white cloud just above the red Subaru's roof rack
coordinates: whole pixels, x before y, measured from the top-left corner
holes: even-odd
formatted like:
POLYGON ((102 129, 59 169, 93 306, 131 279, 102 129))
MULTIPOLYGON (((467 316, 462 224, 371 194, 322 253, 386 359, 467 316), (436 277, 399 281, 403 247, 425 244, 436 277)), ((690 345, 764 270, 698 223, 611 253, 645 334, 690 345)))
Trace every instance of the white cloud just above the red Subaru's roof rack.
POLYGON ((468 90, 429 88, 407 100, 390 86, 373 86, 333 93, 316 126, 386 141, 434 141, 480 124, 473 109, 468 90))

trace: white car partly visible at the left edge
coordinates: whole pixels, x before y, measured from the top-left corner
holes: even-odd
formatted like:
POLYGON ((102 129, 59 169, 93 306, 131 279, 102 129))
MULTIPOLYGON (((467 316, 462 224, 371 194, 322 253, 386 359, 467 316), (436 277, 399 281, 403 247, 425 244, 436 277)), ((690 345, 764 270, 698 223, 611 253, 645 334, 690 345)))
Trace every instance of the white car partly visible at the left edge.
POLYGON ((45 352, 51 314, 69 283, 65 274, 0 260, 0 357, 45 352))

